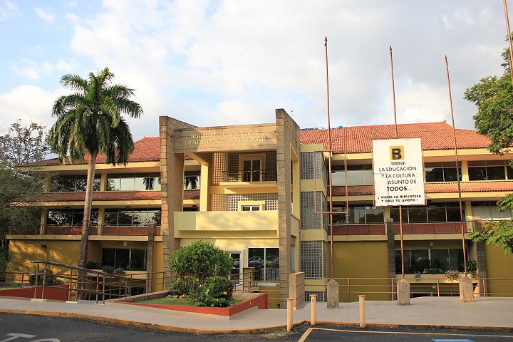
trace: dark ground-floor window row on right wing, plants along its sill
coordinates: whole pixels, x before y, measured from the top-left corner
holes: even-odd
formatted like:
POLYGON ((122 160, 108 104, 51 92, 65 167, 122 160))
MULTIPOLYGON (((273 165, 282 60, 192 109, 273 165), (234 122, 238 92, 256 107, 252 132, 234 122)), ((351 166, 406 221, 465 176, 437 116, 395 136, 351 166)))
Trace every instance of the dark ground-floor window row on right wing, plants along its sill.
MULTIPOLYGON (((405 249, 406 274, 423 273, 425 269, 449 269, 462 271, 463 249, 405 249)), ((395 251, 395 273, 401 273, 400 250, 395 251)))

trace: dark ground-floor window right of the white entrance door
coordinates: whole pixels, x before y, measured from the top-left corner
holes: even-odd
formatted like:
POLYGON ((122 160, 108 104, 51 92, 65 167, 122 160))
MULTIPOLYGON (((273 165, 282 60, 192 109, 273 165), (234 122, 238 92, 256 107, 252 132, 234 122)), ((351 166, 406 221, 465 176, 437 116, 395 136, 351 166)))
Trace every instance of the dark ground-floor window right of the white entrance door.
POLYGON ((279 280, 279 249, 249 248, 248 267, 257 268, 256 280, 279 280))

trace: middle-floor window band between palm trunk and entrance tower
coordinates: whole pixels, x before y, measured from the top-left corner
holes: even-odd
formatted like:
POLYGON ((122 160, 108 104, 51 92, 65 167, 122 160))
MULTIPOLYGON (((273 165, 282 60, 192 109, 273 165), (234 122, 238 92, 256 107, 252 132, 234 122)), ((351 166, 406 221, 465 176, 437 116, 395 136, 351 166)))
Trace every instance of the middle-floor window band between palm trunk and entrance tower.
POLYGON ((106 226, 147 226, 152 221, 160 224, 160 209, 105 209, 106 226))

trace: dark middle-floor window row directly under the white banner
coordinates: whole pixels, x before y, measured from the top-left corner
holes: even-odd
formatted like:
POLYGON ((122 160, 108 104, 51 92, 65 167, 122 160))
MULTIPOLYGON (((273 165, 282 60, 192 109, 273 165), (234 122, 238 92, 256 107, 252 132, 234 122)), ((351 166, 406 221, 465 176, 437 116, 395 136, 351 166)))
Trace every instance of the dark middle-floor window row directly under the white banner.
MULTIPOLYGON (((465 207, 462 208, 465 219, 465 207)), ((399 207, 390 207, 390 218, 399 222, 399 207)), ((460 222, 460 203, 430 203, 427 206, 404 206, 403 222, 460 222)))

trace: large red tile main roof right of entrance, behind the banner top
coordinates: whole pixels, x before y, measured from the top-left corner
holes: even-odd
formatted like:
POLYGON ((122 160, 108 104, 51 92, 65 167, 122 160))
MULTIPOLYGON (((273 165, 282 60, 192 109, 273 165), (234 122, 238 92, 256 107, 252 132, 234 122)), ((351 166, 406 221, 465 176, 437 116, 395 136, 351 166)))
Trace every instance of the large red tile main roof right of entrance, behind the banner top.
MULTIPOLYGON (((398 125, 399 138, 421 138, 423 150, 446 150, 454 148, 452 126, 440 123, 409 123, 398 125)), ((372 152, 372 140, 395 138, 394 125, 354 126, 333 128, 331 145, 335 152, 372 152)), ((487 147, 488 138, 475 130, 456 129, 458 148, 487 147)), ((328 130, 301 130, 301 144, 323 144, 328 150, 328 130)))

